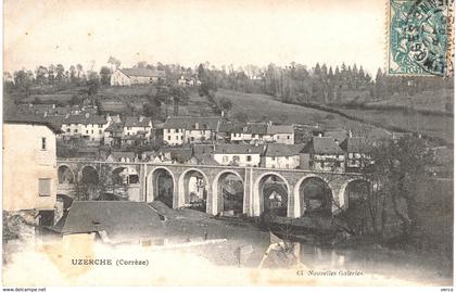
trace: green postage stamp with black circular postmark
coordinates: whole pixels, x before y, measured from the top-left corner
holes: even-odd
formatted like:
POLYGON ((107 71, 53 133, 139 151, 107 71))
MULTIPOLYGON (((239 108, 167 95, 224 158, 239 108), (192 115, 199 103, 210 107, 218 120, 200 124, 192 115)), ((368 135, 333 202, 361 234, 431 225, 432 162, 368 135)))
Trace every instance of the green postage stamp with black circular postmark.
POLYGON ((389 0, 389 75, 453 76, 454 0, 389 0))

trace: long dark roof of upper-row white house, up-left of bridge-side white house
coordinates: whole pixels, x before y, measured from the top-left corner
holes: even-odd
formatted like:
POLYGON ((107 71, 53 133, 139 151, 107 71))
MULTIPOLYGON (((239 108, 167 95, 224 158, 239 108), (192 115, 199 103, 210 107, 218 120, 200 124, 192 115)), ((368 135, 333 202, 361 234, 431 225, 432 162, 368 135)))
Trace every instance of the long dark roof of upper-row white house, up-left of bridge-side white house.
POLYGON ((172 116, 166 118, 164 129, 207 129, 216 130, 218 117, 172 116))

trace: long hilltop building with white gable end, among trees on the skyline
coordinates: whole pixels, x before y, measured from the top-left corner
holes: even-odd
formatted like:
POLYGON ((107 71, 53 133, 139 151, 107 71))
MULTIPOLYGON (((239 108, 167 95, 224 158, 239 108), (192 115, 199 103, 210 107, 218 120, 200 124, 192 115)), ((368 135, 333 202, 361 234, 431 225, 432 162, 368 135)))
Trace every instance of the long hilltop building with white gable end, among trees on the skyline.
POLYGON ((111 86, 148 85, 165 79, 165 72, 160 69, 117 68, 111 75, 111 86))

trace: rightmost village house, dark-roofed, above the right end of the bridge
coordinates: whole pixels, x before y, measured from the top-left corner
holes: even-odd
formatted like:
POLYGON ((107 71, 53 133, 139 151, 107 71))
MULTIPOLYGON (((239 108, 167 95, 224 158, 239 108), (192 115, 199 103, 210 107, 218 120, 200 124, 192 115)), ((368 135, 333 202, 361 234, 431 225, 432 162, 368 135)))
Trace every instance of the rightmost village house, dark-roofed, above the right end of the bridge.
POLYGON ((358 172, 369 161, 369 145, 364 137, 349 137, 340 148, 345 152, 345 170, 358 172))

